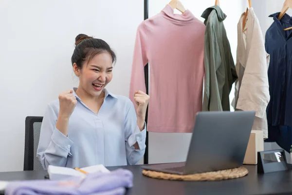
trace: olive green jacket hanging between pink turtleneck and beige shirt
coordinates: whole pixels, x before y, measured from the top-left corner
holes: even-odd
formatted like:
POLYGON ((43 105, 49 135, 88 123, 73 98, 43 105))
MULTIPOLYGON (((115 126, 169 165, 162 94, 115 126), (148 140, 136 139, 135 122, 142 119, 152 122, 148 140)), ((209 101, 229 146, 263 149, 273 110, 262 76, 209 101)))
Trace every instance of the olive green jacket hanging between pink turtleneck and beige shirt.
POLYGON ((217 5, 207 8, 205 19, 203 111, 229 111, 229 94, 237 73, 223 20, 226 15, 217 5))

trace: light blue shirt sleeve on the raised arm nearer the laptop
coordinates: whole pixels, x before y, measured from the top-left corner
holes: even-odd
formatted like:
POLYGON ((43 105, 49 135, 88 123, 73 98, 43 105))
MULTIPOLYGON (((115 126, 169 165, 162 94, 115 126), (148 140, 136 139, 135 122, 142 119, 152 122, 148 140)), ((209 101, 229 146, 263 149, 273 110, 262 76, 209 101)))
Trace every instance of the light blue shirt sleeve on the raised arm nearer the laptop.
POLYGON ((125 143, 126 155, 129 165, 134 165, 144 156, 146 149, 146 122, 144 129, 140 131, 137 125, 137 115, 133 104, 130 102, 130 107, 125 119, 125 143), (138 143, 139 149, 135 149, 134 144, 138 143))

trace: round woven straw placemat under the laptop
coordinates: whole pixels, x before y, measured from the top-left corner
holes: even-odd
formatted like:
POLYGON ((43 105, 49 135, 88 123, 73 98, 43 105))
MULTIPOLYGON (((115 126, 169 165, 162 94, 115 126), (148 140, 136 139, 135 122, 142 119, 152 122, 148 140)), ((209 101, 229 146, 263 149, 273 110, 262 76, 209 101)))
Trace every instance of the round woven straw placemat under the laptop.
POLYGON ((177 175, 177 174, 167 174, 156 171, 143 170, 143 175, 156 178, 156 179, 165 179, 165 180, 181 180, 181 181, 216 181, 224 179, 234 179, 246 176, 248 170, 244 167, 238 167, 234 169, 226 169, 221 171, 207 172, 201 174, 192 174, 192 175, 177 175))

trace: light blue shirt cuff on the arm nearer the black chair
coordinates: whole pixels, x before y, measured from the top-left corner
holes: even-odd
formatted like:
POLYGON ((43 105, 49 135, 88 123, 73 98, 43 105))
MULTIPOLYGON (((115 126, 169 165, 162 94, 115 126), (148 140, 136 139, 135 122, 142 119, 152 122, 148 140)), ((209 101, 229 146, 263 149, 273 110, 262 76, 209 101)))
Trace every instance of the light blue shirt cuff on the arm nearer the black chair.
POLYGON ((55 128, 53 135, 52 135, 52 141, 60 148, 68 151, 68 155, 72 156, 71 154, 71 146, 73 145, 73 141, 66 137, 64 134, 62 134, 57 128, 55 128))

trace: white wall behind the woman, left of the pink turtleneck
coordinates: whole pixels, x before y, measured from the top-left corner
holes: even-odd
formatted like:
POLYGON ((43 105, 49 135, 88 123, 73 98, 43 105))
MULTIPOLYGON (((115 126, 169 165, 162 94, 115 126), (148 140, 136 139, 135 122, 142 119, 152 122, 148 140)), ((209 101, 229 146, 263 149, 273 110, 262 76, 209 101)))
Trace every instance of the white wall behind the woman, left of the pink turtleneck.
POLYGON ((136 28, 144 0, 0 1, 0 172, 23 170, 26 116, 76 86, 71 56, 79 33, 117 53, 108 89, 128 96, 136 28))

